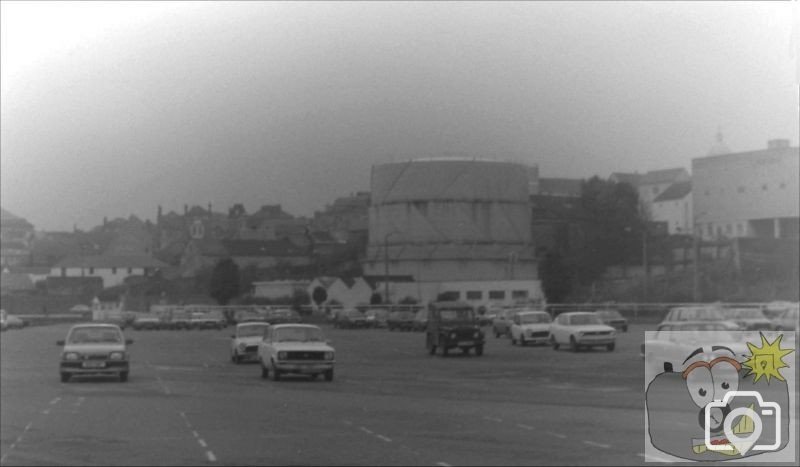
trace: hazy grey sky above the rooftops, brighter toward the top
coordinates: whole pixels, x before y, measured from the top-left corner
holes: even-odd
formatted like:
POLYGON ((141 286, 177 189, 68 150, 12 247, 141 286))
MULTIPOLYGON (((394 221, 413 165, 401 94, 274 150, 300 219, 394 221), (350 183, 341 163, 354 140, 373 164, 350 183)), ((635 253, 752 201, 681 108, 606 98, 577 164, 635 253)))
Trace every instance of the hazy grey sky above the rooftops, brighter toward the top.
POLYGON ((312 216, 373 164, 541 177, 798 145, 798 2, 0 2, 0 203, 37 230, 312 216))

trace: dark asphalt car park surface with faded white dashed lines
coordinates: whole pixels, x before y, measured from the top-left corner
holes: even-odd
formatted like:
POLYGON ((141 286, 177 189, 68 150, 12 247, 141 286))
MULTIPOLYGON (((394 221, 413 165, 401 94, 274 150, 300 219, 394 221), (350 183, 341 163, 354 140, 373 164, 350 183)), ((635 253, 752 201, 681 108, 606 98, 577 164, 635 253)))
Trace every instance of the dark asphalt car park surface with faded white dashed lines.
POLYGON ((429 356, 424 334, 337 330, 333 382, 263 380, 232 328, 132 331, 130 379, 60 383, 68 325, 0 337, 2 465, 643 464, 642 326, 617 348, 488 337, 429 356))

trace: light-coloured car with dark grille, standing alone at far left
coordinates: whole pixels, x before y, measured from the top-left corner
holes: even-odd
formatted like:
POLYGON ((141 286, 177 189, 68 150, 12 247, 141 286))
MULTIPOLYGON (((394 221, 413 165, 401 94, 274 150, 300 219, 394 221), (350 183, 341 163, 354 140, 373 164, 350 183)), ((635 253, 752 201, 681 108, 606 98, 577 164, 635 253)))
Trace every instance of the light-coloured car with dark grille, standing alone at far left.
POLYGON ((76 324, 67 338, 57 342, 63 347, 59 372, 66 383, 76 375, 111 375, 121 382, 128 380, 130 355, 122 329, 115 324, 76 324))

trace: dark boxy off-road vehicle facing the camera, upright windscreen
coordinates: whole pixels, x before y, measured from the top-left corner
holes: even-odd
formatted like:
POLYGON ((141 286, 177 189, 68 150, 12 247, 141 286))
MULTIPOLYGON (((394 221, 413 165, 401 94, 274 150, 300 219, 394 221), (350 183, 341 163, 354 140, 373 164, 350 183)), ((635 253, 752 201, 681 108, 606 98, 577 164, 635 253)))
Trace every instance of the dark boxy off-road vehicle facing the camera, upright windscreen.
POLYGON ((475 349, 483 355, 485 338, 472 306, 461 302, 435 302, 428 307, 428 329, 425 346, 433 355, 437 349, 446 356, 459 348, 465 354, 475 349))

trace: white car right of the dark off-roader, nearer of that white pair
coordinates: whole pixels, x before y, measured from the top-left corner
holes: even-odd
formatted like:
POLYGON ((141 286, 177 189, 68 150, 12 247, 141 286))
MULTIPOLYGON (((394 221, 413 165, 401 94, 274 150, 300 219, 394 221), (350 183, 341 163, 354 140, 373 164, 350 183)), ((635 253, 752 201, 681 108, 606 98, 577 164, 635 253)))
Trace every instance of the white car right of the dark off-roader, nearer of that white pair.
POLYGON ((603 324, 600 317, 589 311, 561 313, 550 325, 550 343, 558 350, 569 344, 573 352, 580 347, 603 346, 609 351, 616 344, 616 330, 603 324))

